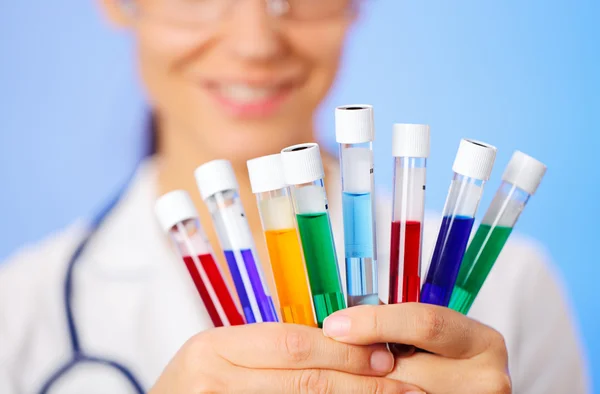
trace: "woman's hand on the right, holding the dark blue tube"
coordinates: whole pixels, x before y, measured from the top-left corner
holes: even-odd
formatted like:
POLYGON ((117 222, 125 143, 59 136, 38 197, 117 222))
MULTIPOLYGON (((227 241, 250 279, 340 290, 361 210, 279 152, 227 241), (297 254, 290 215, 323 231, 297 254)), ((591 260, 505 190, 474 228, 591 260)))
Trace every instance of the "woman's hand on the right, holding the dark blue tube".
POLYGON ((398 343, 425 350, 397 357, 387 377, 428 394, 512 392, 502 335, 448 308, 358 306, 329 316, 323 332, 342 343, 398 343))

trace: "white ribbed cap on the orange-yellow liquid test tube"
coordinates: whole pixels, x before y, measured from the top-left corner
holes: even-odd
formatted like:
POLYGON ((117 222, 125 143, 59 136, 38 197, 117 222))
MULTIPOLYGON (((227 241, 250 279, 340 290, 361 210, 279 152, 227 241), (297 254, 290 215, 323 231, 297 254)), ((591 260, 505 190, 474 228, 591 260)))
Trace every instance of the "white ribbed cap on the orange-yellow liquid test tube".
POLYGON ((281 168, 281 154, 258 157, 246 164, 252 193, 270 192, 287 186, 281 168))

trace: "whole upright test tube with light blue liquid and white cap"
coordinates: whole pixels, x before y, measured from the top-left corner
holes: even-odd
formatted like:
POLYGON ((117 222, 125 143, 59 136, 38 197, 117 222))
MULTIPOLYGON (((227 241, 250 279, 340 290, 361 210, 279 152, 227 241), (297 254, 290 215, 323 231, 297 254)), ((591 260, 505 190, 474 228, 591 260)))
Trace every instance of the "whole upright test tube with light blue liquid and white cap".
POLYGON ((335 110, 340 149, 348 306, 378 305, 377 242, 373 182, 373 107, 335 110))

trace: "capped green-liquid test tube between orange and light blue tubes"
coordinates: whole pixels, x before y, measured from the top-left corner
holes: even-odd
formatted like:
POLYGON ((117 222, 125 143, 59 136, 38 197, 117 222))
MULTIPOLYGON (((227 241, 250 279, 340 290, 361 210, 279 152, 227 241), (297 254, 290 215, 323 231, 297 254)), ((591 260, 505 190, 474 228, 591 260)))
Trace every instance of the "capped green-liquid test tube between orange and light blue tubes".
POLYGON ((340 279, 319 145, 290 146, 281 151, 286 183, 289 185, 313 305, 319 327, 330 314, 346 307, 340 279))

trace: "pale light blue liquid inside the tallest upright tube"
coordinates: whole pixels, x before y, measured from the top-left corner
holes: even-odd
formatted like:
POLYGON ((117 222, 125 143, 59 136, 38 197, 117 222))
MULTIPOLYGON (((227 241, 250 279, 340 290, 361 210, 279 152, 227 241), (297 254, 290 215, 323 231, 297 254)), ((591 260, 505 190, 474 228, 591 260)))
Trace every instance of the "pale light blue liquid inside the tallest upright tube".
POLYGON ((348 305, 377 305, 371 193, 342 193, 348 305))

